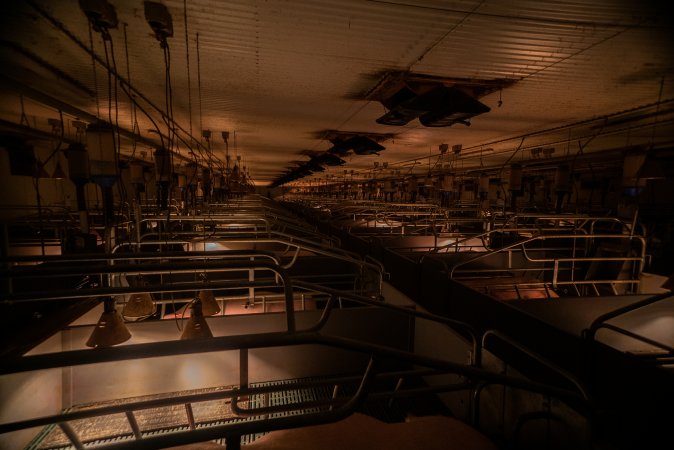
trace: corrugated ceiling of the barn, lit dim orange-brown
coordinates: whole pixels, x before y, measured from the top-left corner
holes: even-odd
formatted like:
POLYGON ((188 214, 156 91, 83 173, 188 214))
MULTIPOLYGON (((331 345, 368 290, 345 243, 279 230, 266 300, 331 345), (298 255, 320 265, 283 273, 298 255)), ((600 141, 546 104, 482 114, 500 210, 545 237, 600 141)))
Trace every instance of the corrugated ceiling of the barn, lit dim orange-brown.
MULTIPOLYGON (((151 158, 157 129, 169 133, 159 112, 167 110, 165 54, 141 0, 110 3, 119 25, 104 45, 95 31, 90 41, 75 0, 3 2, 4 130, 49 133, 48 119, 60 110, 65 136, 73 137, 75 119, 98 117, 137 128, 121 152, 151 158), (114 78, 108 83, 102 63, 129 81, 135 107, 114 78)), ((381 136, 386 150, 350 154, 345 165, 304 180, 351 169, 365 175, 375 161, 422 173, 437 165, 443 143, 462 145, 452 164, 465 168, 526 161, 541 146, 570 157, 671 146, 674 137, 674 21, 665 1, 162 3, 173 22, 174 151, 188 159, 190 144, 197 155, 209 147, 220 160, 240 155, 260 185, 308 160, 306 150, 330 149, 328 139, 339 133, 381 136), (490 85, 479 100, 491 111, 470 126, 380 125, 375 120, 386 109, 379 89, 393 73, 490 85), (202 130, 211 131, 210 142, 202 130)))

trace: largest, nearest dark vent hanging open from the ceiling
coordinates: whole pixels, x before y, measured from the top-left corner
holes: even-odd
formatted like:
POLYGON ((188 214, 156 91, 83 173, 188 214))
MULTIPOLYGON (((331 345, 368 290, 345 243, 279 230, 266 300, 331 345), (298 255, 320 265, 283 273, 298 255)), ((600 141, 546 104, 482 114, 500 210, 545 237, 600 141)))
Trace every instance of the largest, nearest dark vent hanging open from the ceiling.
POLYGON ((491 108, 456 87, 438 85, 416 94, 404 85, 381 101, 389 112, 377 119, 382 125, 402 126, 419 118, 426 127, 448 127, 455 123, 470 125, 468 119, 491 108))

